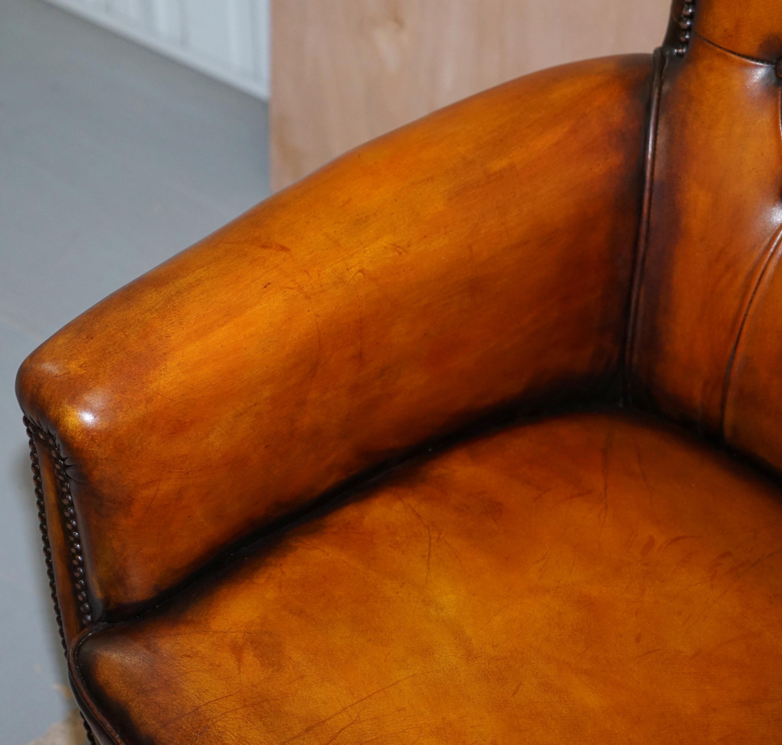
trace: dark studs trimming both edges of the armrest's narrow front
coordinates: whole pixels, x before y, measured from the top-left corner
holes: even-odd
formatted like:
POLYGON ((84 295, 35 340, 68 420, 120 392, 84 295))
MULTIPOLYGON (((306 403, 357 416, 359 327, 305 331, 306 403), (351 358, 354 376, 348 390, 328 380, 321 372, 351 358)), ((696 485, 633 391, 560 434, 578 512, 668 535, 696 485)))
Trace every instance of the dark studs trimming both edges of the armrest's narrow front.
MULTIPOLYGON (((76 523, 76 511, 74 510, 74 498, 70 494, 70 483, 66 474, 66 465, 63 455, 59 452, 57 443, 51 434, 47 434, 40 427, 30 422, 25 416, 24 426, 27 427, 27 435, 30 437, 30 458, 33 459, 33 480, 35 482, 35 495, 38 499, 38 520, 41 521, 41 534, 44 536, 44 553, 46 555, 46 570, 49 576, 49 585, 52 587, 52 597, 55 602, 55 612, 59 623, 60 635, 63 636, 63 621, 57 603, 56 590, 54 588, 54 570, 52 567, 52 549, 48 545, 48 531, 46 530, 46 516, 43 504, 43 489, 41 488, 41 469, 38 465, 38 452, 35 447, 35 439, 41 441, 49 448, 52 455, 52 465, 57 477, 59 488, 59 502, 63 506, 65 519, 65 532, 70 554, 70 574, 74 578, 74 591, 76 593, 77 606, 81 623, 87 626, 92 621, 92 610, 87 596, 87 587, 84 583, 84 557, 81 555, 81 542, 76 523)), ((63 645, 65 644, 63 638, 63 645)))

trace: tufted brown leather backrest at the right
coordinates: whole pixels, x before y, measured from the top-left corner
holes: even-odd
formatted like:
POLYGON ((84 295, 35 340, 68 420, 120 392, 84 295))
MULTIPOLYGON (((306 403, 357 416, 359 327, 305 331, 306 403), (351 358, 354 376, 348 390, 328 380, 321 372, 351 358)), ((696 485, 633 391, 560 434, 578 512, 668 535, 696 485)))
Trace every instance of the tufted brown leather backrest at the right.
POLYGON ((652 123, 633 400, 782 468, 782 3, 673 4, 652 123))

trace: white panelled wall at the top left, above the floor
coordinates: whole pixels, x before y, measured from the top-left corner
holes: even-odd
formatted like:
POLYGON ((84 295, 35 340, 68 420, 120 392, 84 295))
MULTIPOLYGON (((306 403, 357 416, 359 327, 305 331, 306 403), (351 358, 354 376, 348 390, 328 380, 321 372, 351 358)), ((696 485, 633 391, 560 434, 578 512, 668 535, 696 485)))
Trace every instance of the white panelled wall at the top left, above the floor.
POLYGON ((269 0, 48 0, 252 95, 269 95, 269 0))

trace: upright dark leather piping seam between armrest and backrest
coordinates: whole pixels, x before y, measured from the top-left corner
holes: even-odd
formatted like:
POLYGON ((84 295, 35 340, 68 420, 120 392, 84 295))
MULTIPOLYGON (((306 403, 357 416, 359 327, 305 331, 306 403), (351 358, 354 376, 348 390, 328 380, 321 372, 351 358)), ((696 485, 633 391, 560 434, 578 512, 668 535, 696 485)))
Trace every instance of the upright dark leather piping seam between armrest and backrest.
POLYGON ((657 157, 657 126, 660 118, 660 99, 662 97, 662 78, 665 74, 666 58, 662 48, 655 49, 655 70, 652 76, 649 119, 646 128, 644 153, 644 201, 641 206, 640 221, 634 251, 633 279, 630 290, 630 313, 627 319, 625 340, 625 381, 624 398, 630 403, 632 394, 633 357, 640 317, 640 290, 644 279, 647 246, 649 243, 649 217, 651 198, 655 182, 655 161, 657 157))

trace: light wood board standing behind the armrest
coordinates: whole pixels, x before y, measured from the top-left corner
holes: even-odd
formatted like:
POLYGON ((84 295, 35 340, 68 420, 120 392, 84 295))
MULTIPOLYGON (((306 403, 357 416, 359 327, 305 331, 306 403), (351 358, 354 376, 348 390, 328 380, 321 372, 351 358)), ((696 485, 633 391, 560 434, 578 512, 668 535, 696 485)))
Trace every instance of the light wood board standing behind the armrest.
POLYGON ((272 0, 272 186, 519 75, 651 52, 668 9, 669 0, 272 0))

